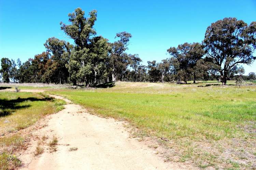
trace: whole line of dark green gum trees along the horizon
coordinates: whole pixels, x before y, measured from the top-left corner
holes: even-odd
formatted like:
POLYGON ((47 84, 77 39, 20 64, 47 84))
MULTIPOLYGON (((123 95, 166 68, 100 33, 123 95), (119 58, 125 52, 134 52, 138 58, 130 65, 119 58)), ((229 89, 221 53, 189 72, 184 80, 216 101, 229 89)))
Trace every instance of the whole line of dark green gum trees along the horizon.
MULTIPOLYGON (((76 8, 68 14, 70 24, 60 22, 61 30, 74 40, 74 45, 52 37, 44 44, 46 51, 29 58, 25 63, 1 59, 3 82, 70 83, 86 86, 110 81, 177 82, 189 80, 219 80, 226 85, 256 57, 256 22, 247 25, 236 18, 224 18, 209 26, 202 43, 184 43, 170 47, 170 58, 142 65, 138 54, 127 54, 132 35, 117 33, 114 43, 97 36, 93 28, 97 11, 85 12, 76 8)), ((255 80, 251 72, 244 80, 255 80)))

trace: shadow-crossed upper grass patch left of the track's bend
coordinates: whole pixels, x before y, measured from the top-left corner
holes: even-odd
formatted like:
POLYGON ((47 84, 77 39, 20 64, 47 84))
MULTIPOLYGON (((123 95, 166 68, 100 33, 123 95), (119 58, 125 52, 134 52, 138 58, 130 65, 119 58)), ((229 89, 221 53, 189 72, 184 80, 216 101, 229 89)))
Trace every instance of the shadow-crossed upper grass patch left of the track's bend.
POLYGON ((27 128, 63 106, 61 100, 29 92, 0 92, 0 134, 27 128))

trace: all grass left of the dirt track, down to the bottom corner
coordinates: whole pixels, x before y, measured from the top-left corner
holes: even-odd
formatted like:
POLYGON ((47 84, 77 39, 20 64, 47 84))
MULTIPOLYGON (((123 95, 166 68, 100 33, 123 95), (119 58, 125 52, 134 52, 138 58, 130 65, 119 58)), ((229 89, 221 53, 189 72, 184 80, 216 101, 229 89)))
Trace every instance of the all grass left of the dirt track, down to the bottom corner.
POLYGON ((44 115, 63 109, 62 100, 29 92, 0 92, 0 169, 21 165, 15 151, 25 148, 24 137, 9 135, 25 129, 44 115))

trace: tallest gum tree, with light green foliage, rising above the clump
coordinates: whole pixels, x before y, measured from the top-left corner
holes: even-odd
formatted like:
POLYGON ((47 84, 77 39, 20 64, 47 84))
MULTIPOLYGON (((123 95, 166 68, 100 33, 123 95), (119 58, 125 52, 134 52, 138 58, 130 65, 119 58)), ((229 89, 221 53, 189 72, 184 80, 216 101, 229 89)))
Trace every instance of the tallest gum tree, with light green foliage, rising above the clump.
POLYGON ((75 47, 70 53, 69 63, 66 64, 70 77, 69 80, 76 85, 79 82, 96 83, 99 68, 102 62, 108 59, 108 43, 103 37, 96 37, 94 23, 97 19, 97 11, 85 12, 76 8, 73 13, 68 14, 70 25, 60 23, 63 30, 70 38, 74 39, 75 47), (99 49, 97 49, 99 48, 99 49), (100 60, 100 61, 98 61, 100 60))

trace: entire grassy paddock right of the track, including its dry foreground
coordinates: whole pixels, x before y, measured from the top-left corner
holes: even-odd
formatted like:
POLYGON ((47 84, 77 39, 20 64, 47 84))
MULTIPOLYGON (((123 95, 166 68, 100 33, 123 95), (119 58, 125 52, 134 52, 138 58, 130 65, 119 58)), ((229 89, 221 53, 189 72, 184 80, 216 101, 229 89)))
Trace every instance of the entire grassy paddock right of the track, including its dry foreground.
POLYGON ((256 87, 198 86, 117 82, 113 88, 52 92, 157 137, 170 148, 168 160, 201 168, 256 164, 256 87))

